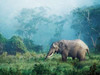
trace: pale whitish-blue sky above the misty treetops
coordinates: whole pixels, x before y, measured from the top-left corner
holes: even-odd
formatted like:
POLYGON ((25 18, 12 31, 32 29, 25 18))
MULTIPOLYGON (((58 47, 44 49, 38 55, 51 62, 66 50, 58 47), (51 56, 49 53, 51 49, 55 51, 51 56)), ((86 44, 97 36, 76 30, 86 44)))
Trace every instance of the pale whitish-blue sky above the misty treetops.
POLYGON ((23 8, 47 7, 48 14, 63 15, 82 6, 93 5, 94 0, 0 0, 0 24, 11 26, 12 19, 23 8))

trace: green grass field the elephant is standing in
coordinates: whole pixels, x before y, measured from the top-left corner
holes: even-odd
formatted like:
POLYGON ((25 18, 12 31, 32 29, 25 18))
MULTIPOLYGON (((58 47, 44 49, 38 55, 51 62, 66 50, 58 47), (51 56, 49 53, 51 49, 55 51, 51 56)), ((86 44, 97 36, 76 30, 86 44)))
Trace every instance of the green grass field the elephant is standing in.
POLYGON ((21 55, 0 56, 0 75, 100 75, 100 54, 90 54, 85 61, 61 60, 60 54, 54 54, 44 60, 45 53, 25 53, 21 55))

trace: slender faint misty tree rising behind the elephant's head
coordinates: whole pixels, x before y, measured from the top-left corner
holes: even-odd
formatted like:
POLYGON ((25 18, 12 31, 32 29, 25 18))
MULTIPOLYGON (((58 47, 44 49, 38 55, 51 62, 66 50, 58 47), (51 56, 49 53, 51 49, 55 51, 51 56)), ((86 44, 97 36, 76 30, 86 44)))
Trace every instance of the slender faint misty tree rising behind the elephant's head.
POLYGON ((67 21, 67 18, 64 18, 62 16, 52 16, 52 20, 55 27, 55 33, 53 37, 50 39, 50 44, 53 43, 54 41, 58 41, 61 39, 61 34, 63 32, 63 26, 67 21))

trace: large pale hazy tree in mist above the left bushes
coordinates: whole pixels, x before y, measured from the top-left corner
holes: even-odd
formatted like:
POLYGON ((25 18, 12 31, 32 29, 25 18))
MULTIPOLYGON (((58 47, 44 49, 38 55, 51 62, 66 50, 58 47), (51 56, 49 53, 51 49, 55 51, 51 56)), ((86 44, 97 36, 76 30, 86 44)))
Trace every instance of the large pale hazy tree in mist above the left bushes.
POLYGON ((23 9, 16 17, 19 23, 17 34, 23 38, 32 40, 32 37, 38 30, 38 26, 47 24, 48 19, 45 17, 46 10, 42 7, 35 9, 23 9))

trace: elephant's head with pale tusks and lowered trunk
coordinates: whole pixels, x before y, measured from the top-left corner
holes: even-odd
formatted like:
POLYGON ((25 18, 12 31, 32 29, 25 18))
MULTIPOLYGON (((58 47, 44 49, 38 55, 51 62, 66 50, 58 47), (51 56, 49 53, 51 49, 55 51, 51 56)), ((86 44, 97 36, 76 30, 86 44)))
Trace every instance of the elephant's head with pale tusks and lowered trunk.
POLYGON ((46 56, 46 59, 51 57, 54 53, 61 53, 64 50, 65 45, 63 42, 55 42, 51 45, 50 50, 46 56))

